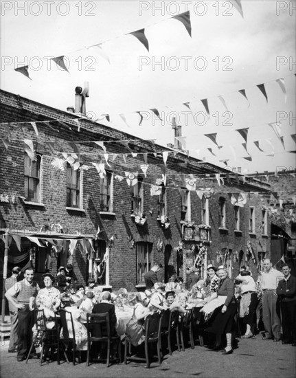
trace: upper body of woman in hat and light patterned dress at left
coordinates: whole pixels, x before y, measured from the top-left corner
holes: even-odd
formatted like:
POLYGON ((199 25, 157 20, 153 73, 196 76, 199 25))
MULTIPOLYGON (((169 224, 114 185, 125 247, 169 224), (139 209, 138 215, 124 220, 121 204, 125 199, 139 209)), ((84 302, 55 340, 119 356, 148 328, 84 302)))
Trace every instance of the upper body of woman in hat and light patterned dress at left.
POLYGON ((44 309, 47 318, 54 316, 54 311, 60 307, 60 291, 53 287, 54 276, 45 273, 42 276, 45 288, 38 291, 36 304, 38 309, 44 309))

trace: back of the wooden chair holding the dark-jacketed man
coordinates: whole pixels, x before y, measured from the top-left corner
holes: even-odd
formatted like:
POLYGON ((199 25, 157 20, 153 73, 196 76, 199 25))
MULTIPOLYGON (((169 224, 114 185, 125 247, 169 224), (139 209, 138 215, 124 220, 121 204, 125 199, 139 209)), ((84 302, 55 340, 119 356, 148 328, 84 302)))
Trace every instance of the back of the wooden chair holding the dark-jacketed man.
POLYGON ((87 313, 87 335, 92 339, 111 337, 109 313, 87 313))

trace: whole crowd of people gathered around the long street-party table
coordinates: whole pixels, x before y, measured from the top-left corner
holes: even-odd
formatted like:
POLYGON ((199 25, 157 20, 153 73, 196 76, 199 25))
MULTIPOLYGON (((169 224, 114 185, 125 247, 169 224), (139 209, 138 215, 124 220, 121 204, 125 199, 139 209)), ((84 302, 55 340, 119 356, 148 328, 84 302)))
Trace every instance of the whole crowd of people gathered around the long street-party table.
MULTIPOLYGON (((87 313, 108 312, 111 335, 116 335, 115 309, 124 307, 133 309, 125 330, 133 346, 140 346, 145 340, 146 317, 168 309, 177 313, 177 321, 187 311, 195 309, 194 322, 206 336, 205 344, 216 351, 222 350, 224 355, 233 353, 234 336, 241 333, 242 338, 249 339, 258 333, 261 311, 263 339, 275 342, 282 339, 282 344, 296 346, 296 278, 291 276, 288 265, 278 271, 266 258, 264 270, 255 282, 247 267, 242 267, 240 274, 232 280, 223 265, 216 268, 211 264, 207 266, 207 277, 196 280, 188 290, 182 278, 171 278, 166 284, 159 282, 157 272, 160 269, 161 265, 156 264, 145 274, 144 292, 128 293, 122 288, 111 293, 102 291, 92 278, 86 287, 77 285, 72 265, 60 267, 56 277, 50 272, 43 274, 43 289, 34 281, 33 269, 25 269, 23 280, 18 281, 21 269, 14 267, 5 283, 11 319, 8 352, 17 353, 19 362, 26 359, 34 332, 33 310, 44 310, 50 328, 56 311, 61 308, 72 314, 77 347, 82 353, 87 351, 87 313)), ((71 318, 68 317, 67 322, 71 322, 71 318)), ((100 335, 101 331, 93 332, 100 335)), ((113 344, 113 357, 116 351, 117 346, 113 344)), ((104 346, 92 346, 93 358, 100 359, 103 354, 104 346)))

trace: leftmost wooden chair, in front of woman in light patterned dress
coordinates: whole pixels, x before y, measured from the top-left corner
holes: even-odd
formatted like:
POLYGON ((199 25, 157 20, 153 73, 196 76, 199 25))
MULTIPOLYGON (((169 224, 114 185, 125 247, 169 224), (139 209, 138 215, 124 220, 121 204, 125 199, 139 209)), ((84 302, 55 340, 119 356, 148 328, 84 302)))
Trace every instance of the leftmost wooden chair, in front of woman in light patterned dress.
POLYGON ((45 318, 44 310, 35 310, 36 315, 36 336, 34 337, 34 340, 32 341, 32 344, 30 346, 30 351, 27 355, 27 358, 25 359, 25 363, 27 364, 27 360, 30 357, 30 354, 32 352, 32 348, 37 340, 40 340, 41 342, 41 355, 40 355, 40 365, 43 362, 43 353, 44 358, 46 357, 47 351, 49 349, 52 352, 52 355, 54 354, 54 348, 56 348, 57 351, 57 362, 58 365, 60 364, 60 348, 62 348, 62 351, 65 355, 65 359, 67 363, 69 363, 69 360, 67 358, 67 354, 65 351, 65 347, 62 344, 60 340, 60 325, 58 324, 58 320, 56 318, 56 314, 54 315, 54 318, 52 321, 54 322, 54 327, 52 329, 47 328, 47 320, 45 318))

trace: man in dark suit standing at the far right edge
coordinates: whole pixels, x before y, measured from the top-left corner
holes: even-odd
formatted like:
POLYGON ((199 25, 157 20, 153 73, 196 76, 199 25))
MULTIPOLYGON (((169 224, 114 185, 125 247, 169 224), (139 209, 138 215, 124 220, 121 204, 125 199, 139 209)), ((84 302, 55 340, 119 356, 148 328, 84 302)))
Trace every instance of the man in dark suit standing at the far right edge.
POLYGON ((291 276, 291 268, 283 265, 284 280, 277 285, 282 312, 283 340, 282 344, 296 346, 296 278, 291 276))

